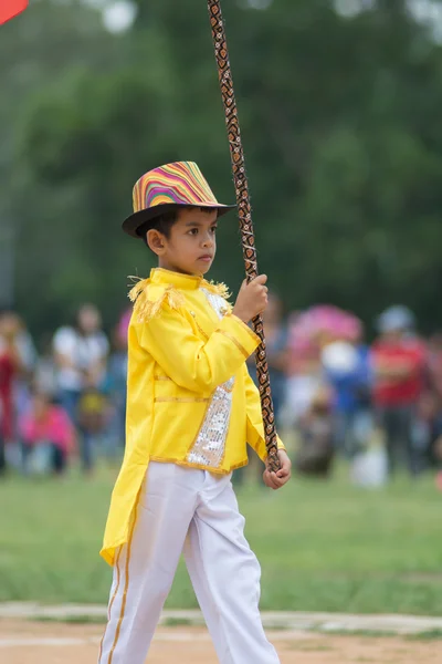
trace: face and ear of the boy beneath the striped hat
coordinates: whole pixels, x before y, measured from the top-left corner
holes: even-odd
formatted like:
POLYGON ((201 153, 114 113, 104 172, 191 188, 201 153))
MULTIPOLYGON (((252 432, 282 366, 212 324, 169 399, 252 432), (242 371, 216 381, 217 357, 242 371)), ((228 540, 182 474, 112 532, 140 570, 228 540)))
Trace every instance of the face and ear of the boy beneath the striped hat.
POLYGON ((169 238, 158 230, 149 230, 147 241, 158 256, 159 267, 185 274, 206 274, 217 251, 217 210, 183 208, 169 238))

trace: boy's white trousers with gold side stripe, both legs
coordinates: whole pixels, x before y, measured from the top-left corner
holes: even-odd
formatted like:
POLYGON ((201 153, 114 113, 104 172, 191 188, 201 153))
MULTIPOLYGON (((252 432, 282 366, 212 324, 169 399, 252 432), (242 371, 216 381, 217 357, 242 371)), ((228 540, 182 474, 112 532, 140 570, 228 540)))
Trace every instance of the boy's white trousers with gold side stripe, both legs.
POLYGON ((278 664, 243 528, 230 475, 150 463, 135 527, 117 552, 98 664, 144 664, 182 550, 220 663, 278 664))

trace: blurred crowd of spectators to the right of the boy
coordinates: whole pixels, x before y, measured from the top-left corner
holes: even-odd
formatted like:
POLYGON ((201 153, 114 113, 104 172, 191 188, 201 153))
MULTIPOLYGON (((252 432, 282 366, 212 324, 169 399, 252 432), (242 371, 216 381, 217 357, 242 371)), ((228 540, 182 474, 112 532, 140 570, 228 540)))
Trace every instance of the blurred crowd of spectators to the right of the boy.
POLYGON ((398 467, 439 469, 442 334, 424 339, 413 313, 393 305, 368 343, 355 314, 318 305, 284 317, 275 294, 264 323, 276 422, 295 434, 299 473, 327 476, 339 455, 362 485, 381 485, 398 467))

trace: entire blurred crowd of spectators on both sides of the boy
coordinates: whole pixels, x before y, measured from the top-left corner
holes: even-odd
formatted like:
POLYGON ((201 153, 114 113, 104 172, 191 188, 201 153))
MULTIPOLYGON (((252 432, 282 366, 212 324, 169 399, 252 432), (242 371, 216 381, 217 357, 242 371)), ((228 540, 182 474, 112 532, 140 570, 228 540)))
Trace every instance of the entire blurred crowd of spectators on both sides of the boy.
MULTIPOLYGON (((23 319, 0 313, 0 474, 92 475, 124 450, 127 328, 110 338, 93 304, 36 347, 23 319)), ((394 305, 361 321, 333 305, 284 315, 271 294, 264 315, 277 425, 293 433, 299 473, 327 476, 345 457, 360 484, 412 476, 442 461, 442 333, 424 339, 394 305)), ((253 359, 250 371, 254 376, 253 359)))

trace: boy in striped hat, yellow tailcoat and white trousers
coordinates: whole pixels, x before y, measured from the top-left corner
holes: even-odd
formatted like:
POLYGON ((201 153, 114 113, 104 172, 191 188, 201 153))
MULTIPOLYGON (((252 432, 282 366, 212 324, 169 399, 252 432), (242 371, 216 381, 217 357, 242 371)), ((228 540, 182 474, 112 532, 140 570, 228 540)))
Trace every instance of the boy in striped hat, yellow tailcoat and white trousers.
MULTIPOLYGON (((167 164, 134 188, 123 229, 159 268, 130 291, 126 452, 114 488, 103 558, 115 566, 99 664, 144 664, 181 551, 221 664, 276 664, 260 613, 260 567, 231 485, 246 442, 265 459, 260 398, 245 360, 248 328, 267 301, 266 278, 225 287, 203 279, 215 253, 214 198, 198 166, 167 164)), ((264 471, 277 489, 291 475, 264 471)))

